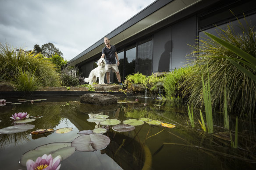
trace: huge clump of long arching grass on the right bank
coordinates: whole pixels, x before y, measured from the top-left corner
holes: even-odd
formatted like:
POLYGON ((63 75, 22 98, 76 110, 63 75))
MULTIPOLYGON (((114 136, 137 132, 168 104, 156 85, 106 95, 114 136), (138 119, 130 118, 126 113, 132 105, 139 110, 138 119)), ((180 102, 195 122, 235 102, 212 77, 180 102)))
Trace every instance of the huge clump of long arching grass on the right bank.
MULTIPOLYGON (((226 30, 218 29, 217 33, 225 42, 231 43, 254 58, 256 57, 255 27, 250 27, 249 24, 243 26, 240 22, 239 25, 235 26, 229 23, 226 30), (235 27, 241 29, 242 35, 235 33, 235 27)), ((204 38, 199 39, 199 43, 195 46, 195 51, 191 55, 196 56, 196 60, 191 63, 196 67, 193 67, 193 72, 186 75, 181 84, 182 97, 188 97, 190 104, 193 103, 196 108, 200 108, 203 105, 201 71, 203 71, 204 79, 206 79, 207 71, 209 71, 214 110, 223 110, 224 87, 226 87, 227 107, 230 113, 254 114, 256 82, 230 62, 232 60, 234 62, 238 61, 237 64, 255 75, 254 70, 244 63, 245 60, 242 57, 216 41, 204 38), (207 65, 209 66, 208 69, 207 65), (225 77, 227 77, 226 81, 224 81, 225 77)))

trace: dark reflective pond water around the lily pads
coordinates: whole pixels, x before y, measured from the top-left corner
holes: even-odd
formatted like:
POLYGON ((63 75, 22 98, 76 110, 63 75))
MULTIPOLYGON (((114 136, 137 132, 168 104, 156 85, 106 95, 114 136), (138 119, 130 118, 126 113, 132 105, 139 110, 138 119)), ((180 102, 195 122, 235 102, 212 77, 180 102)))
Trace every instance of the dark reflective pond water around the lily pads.
MULTIPOLYGON (((27 98, 21 104, 7 103, 0 106, 0 129, 16 125, 11 114, 27 112, 35 121, 25 123, 35 128, 14 134, 0 134, 0 169, 25 170, 20 163, 22 155, 38 146, 54 142, 72 142, 79 131, 99 128, 87 119, 95 114, 105 114, 109 119, 121 122, 127 119, 150 118, 175 125, 166 128, 161 125, 135 126, 131 132, 104 133, 110 144, 94 152, 76 150, 60 162, 60 170, 234 170, 256 168, 256 135, 252 120, 238 122, 238 149, 231 147, 230 131, 225 130, 220 113, 214 116, 214 134, 203 132, 199 123, 191 128, 187 107, 181 103, 156 101, 144 97, 119 97, 117 105, 95 106, 80 103, 80 97, 51 97, 46 100, 27 98), (127 103, 123 101, 135 101, 127 103), (34 103, 31 103, 31 100, 34 103), (144 104, 147 103, 147 104, 144 104), (36 117, 34 117, 36 116, 36 117), (56 131, 31 135, 37 129, 54 130, 72 128, 71 132, 56 131), (220 134, 224 134, 220 136, 220 134), (226 139, 228 138, 228 139, 226 139)), ((18 103, 18 99, 7 102, 18 103)), ((194 111, 196 122, 198 110, 194 111)), ((200 117, 200 116, 199 116, 200 117)), ((199 118, 198 117, 198 118, 199 118)), ((231 117, 231 134, 235 139, 235 118, 231 117)), ((49 153, 47 153, 49 154, 49 153)))

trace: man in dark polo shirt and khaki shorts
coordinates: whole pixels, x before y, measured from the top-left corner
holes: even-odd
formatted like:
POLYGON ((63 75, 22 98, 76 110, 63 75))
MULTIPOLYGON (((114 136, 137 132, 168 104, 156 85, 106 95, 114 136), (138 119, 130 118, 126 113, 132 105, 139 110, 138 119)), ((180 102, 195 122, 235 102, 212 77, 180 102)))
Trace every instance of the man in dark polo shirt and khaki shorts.
POLYGON ((104 37, 104 43, 105 47, 102 49, 102 56, 101 58, 105 58, 106 65, 107 65, 107 83, 109 84, 110 81, 110 70, 112 69, 113 73, 116 73, 117 80, 120 85, 123 85, 121 83, 121 77, 119 73, 119 69, 117 66, 119 66, 120 62, 117 56, 117 50, 114 45, 110 45, 110 40, 107 37, 104 37), (117 62, 116 62, 117 59, 117 62))

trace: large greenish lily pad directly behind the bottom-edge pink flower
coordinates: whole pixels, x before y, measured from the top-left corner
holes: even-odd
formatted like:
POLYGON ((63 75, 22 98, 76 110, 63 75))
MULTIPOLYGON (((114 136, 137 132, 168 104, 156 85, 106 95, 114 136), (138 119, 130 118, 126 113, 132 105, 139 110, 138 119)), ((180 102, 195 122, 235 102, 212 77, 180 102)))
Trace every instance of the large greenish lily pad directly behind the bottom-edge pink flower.
POLYGON ((28 159, 36 161, 36 159, 43 154, 51 154, 53 158, 60 155, 60 160, 65 160, 75 152, 75 147, 71 146, 70 142, 56 142, 49 143, 43 146, 39 146, 36 149, 32 149, 21 156, 21 165, 26 166, 28 159))

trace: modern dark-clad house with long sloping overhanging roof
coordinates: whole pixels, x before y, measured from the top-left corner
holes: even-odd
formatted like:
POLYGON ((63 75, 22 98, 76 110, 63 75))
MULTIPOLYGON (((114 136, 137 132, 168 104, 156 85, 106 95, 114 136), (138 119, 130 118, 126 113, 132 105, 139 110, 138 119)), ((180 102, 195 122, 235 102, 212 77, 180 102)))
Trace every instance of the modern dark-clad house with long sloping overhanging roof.
MULTIPOLYGON (((228 22, 237 24, 244 17, 256 25, 256 0, 156 0, 107 36, 120 59, 121 80, 132 73, 151 75, 183 67, 191 60, 187 55, 202 37, 203 31, 216 33, 228 22)), ((71 66, 78 66, 88 77, 100 59, 103 38, 78 56, 71 66)), ((110 82, 116 82, 110 74, 110 82)))

